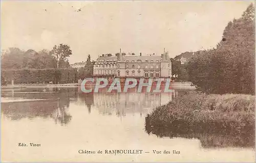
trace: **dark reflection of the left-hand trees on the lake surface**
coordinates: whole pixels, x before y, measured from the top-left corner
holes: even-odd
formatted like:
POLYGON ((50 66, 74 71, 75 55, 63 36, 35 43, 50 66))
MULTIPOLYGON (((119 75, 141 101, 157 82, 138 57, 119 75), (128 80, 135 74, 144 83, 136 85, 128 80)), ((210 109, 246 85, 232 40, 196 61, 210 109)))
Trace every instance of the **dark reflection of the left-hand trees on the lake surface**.
POLYGON ((69 96, 56 95, 15 95, 14 98, 26 99, 49 99, 46 101, 21 101, 1 103, 2 113, 11 120, 20 120, 23 118, 51 118, 55 123, 64 125, 68 124, 72 116, 68 113, 70 98, 69 96))

